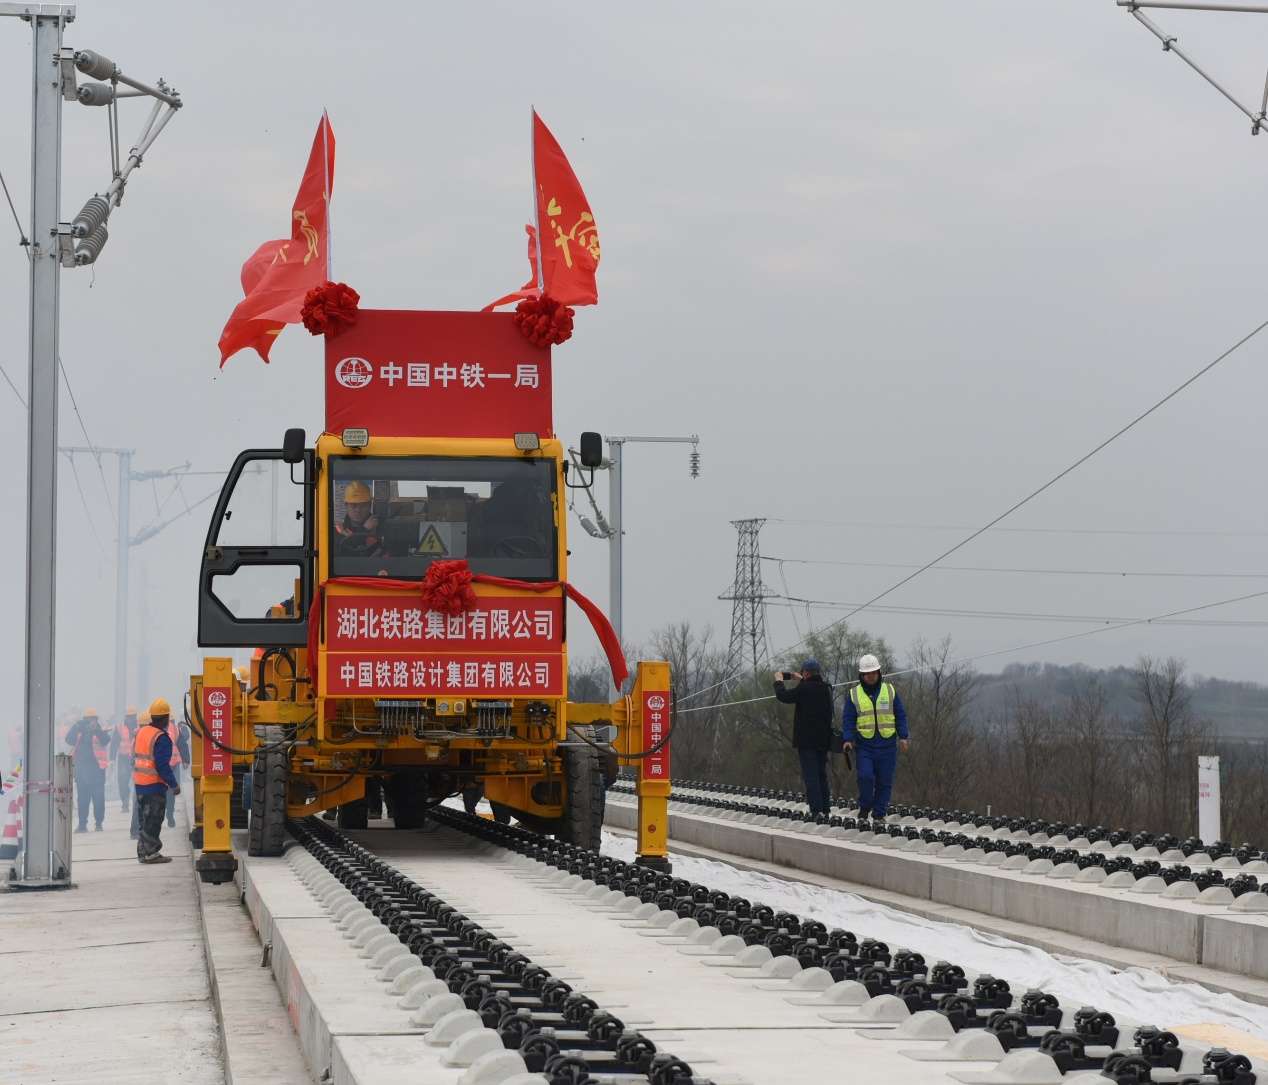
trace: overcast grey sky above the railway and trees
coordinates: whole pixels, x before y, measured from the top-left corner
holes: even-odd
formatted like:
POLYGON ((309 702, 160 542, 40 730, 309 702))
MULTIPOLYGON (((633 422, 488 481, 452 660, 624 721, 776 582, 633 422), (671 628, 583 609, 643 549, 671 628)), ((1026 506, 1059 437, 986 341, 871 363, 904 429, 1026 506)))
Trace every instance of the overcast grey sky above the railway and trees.
MULTIPOLYGON (((1258 101, 1268 18, 1158 13, 1258 101)), ((699 432, 628 454, 626 635, 671 620, 725 641, 729 521, 766 554, 921 564, 1088 451, 1268 317, 1268 136, 1111 0, 1033 5, 611 5, 382 0, 79 5, 66 41, 186 103, 112 219, 94 270, 62 276, 62 355, 94 442, 136 468, 219 470, 289 426, 321 428, 321 346, 288 328, 265 366, 217 369, 238 269, 288 232, 322 106, 339 139, 335 271, 363 304, 478 308, 525 278, 529 108, 569 155, 602 237, 601 302, 555 351, 574 440, 699 432), (841 525, 913 525, 908 527, 841 525)), ((0 170, 29 215, 29 30, 0 20, 0 170)), ((124 103, 131 141, 145 105, 124 103)), ((109 181, 105 115, 65 109, 63 215, 109 181)), ((8 214, 6 208, 0 208, 8 214)), ((27 383, 27 271, 0 221, 0 364, 27 383)), ((1262 574, 929 572, 903 607, 1145 617, 1268 592, 1268 332, 947 564, 1262 574), (1170 532, 1170 534, 1168 534, 1170 532), (1194 534, 1210 532, 1210 534, 1194 534)), ((0 721, 22 711, 25 416, 0 387, 10 469, 0 721)), ((61 439, 84 444, 62 399, 61 439)), ((62 461, 58 709, 112 700, 114 461, 62 461)), ((191 502, 216 479, 184 482, 191 502)), ((164 485, 157 501, 167 496, 164 485)), ((606 485, 600 489, 606 507, 606 485)), ((171 498, 160 518, 180 508, 171 498)), ((208 508, 134 551, 152 688, 180 695, 208 508)), ((155 518, 133 491, 133 529, 155 518)), ((573 521, 576 523, 576 521, 573 521)), ((606 546, 576 529, 572 579, 606 601, 606 546)), ((785 564, 787 593, 871 598, 908 570, 785 564)), ((767 582, 784 592, 780 569, 767 582)), ((823 625, 841 611, 820 610, 823 625)), ((1206 611, 1268 622, 1268 597, 1206 611)), ((805 619, 800 619, 804 629, 805 619)), ((772 606, 776 646, 798 639, 772 606)), ((900 649, 992 653, 1096 622, 865 612, 900 649)), ((573 622, 576 631, 579 622, 573 622)), ((983 660, 1130 663, 1263 677, 1258 626, 1136 626, 983 660)), ((574 639, 576 652, 592 641, 574 639)))

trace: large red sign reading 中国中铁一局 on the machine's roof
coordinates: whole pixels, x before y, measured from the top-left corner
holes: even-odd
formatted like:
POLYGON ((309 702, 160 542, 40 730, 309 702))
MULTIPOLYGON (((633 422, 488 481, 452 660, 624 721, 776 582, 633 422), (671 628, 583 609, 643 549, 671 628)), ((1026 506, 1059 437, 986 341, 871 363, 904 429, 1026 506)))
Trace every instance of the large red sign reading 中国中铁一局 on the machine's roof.
POLYGON ((550 349, 511 313, 361 309, 326 340, 326 430, 377 437, 552 436, 550 349))

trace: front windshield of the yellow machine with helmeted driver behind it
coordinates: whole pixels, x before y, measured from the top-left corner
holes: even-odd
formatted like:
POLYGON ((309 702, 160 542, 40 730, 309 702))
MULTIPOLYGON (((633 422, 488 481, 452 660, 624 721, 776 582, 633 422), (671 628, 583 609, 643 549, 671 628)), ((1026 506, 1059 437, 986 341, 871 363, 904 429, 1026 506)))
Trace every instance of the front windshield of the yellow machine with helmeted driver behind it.
POLYGON ((436 560, 520 581, 557 578, 554 463, 335 456, 331 574, 421 578, 436 560))

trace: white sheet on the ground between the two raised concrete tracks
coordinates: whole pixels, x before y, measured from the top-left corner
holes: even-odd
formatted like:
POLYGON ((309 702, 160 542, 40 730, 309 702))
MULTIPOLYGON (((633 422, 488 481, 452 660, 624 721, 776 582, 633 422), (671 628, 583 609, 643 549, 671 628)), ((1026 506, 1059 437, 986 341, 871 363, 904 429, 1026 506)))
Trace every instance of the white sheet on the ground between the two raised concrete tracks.
MULTIPOLYGON (((634 840, 604 831, 604 854, 630 861, 634 840)), ((852 930, 860 941, 877 938, 890 949, 914 949, 935 961, 951 961, 970 975, 989 972, 1007 980, 1014 992, 1038 987, 1065 1008, 1089 1005, 1116 1017, 1160 1028, 1226 1024, 1268 1039, 1268 1006, 1219 995, 1197 984, 1177 984, 1148 968, 1118 971, 1108 965, 1060 957, 971 927, 923 919, 885 908, 842 890, 785 881, 713 859, 671 854, 673 873, 733 896, 803 919, 818 919, 852 930)))

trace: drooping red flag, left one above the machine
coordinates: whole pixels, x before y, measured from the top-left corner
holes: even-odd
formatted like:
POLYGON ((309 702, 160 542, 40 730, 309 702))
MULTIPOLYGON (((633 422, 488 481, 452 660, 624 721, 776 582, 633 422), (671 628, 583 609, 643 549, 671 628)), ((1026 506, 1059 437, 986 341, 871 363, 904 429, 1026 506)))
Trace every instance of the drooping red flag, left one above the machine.
POLYGON ((265 361, 278 333, 299 323, 304 294, 330 278, 330 194, 335 184, 335 133, 323 113, 308 153, 290 237, 266 241, 242 265, 242 293, 221 332, 221 365, 255 347, 265 361))

